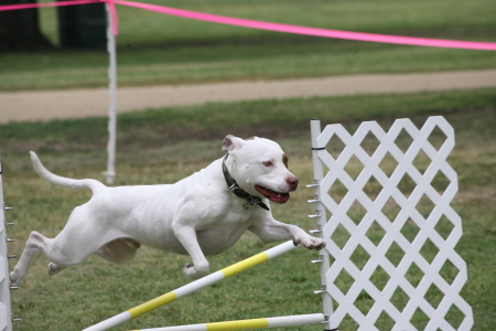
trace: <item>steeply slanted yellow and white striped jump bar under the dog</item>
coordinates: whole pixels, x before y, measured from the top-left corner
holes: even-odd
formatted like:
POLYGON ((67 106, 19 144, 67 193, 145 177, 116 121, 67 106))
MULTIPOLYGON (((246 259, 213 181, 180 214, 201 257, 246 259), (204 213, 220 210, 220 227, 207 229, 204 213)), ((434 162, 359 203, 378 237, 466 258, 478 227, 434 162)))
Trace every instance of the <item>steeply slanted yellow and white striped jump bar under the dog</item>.
POLYGON ((175 299, 188 296, 202 288, 205 288, 205 287, 211 286, 215 282, 218 282, 223 279, 226 279, 230 276, 234 276, 234 275, 237 275, 245 270, 248 270, 248 269, 256 267, 269 259, 272 259, 274 257, 278 257, 279 255, 288 253, 296 247, 298 246, 294 246, 292 241, 285 242, 281 245, 278 245, 278 246, 267 249, 260 254, 257 254, 247 259, 244 259, 237 264, 234 264, 227 268, 224 268, 214 274, 211 274, 211 275, 200 278, 195 281, 192 281, 183 287, 180 287, 180 288, 177 288, 173 291, 170 291, 163 296, 160 296, 153 300, 150 300, 140 306, 131 308, 125 312, 116 314, 115 317, 109 318, 105 321, 101 321, 93 327, 89 327, 89 328, 83 330, 83 331, 105 331, 110 328, 120 325, 123 322, 127 322, 131 319, 134 319, 139 316, 150 312, 159 307, 168 305, 168 303, 174 301, 175 299))

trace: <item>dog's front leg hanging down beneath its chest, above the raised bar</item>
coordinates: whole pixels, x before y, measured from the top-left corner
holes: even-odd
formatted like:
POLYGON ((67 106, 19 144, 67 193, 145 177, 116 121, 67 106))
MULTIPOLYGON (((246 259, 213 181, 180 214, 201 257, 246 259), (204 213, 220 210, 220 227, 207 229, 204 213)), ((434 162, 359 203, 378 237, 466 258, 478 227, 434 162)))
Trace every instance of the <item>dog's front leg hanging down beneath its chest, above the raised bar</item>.
POLYGON ((193 265, 184 264, 182 271, 187 277, 197 279, 208 275, 209 265, 205 258, 202 248, 200 247, 198 239, 196 237, 196 229, 193 226, 174 224, 173 231, 175 237, 183 245, 190 255, 193 265))

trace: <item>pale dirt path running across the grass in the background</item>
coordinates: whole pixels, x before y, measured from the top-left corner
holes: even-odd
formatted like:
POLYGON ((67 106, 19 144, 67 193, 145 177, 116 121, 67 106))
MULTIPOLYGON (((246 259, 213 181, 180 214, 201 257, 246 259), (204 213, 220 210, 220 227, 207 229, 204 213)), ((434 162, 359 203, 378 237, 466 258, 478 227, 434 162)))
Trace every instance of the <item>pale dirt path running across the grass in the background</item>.
MULTIPOLYGON (((263 98, 496 87, 496 70, 118 88, 118 113, 263 98)), ((0 93, 0 124, 106 116, 107 88, 0 93)))

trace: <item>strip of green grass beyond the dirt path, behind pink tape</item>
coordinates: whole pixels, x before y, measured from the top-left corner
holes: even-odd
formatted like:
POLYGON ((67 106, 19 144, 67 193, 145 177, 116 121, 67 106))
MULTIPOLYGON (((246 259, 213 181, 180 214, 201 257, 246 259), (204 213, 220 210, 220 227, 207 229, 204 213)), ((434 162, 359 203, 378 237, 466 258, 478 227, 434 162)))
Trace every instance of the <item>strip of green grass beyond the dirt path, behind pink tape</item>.
MULTIPOLYGON (((494 1, 151 1, 306 26, 495 41, 494 1)), ((118 7, 119 86, 284 79, 363 73, 483 70, 494 52, 339 41, 273 33, 118 7)), ((55 9, 40 11, 57 43, 55 9)), ((0 90, 107 86, 105 52, 0 54, 0 90)))

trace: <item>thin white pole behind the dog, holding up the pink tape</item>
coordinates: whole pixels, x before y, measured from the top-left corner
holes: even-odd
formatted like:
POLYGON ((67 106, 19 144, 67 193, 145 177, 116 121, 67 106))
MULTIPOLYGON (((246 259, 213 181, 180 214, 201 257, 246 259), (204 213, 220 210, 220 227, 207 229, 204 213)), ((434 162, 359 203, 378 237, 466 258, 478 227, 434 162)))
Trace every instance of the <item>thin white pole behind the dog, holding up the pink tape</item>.
POLYGON ((117 136, 117 60, 116 60, 116 36, 112 33, 112 15, 108 2, 107 9, 107 51, 109 54, 110 65, 108 68, 110 106, 108 109, 108 143, 107 143, 107 171, 104 175, 108 184, 114 184, 116 177, 116 136, 117 136))

